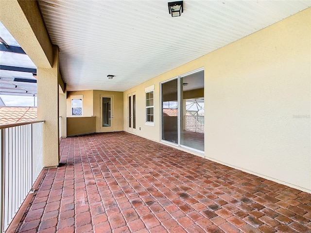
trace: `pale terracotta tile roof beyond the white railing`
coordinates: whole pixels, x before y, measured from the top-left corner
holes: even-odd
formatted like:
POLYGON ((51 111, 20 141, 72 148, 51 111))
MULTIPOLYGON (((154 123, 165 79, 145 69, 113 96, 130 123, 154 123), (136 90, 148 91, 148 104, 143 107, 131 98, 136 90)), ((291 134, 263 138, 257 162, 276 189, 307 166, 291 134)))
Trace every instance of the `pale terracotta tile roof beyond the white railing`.
POLYGON ((12 124, 37 120, 36 107, 1 107, 0 124, 12 124))

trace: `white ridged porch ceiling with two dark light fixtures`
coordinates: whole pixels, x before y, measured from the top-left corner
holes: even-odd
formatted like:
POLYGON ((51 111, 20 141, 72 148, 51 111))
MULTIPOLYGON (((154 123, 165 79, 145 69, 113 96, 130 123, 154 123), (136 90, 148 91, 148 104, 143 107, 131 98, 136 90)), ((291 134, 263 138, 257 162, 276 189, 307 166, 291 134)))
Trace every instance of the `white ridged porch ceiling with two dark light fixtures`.
POLYGON ((39 0, 67 89, 127 90, 311 6, 185 0, 181 17, 171 17, 167 2, 39 0))

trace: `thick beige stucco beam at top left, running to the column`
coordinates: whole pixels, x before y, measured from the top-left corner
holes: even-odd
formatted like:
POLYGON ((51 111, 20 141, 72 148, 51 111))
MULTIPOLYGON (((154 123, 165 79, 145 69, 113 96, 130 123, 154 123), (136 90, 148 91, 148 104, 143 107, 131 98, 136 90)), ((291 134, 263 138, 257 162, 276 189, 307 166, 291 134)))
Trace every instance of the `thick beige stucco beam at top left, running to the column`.
POLYGON ((53 66, 52 43, 36 0, 1 0, 0 21, 36 67, 53 66))

